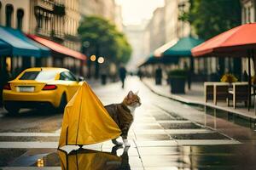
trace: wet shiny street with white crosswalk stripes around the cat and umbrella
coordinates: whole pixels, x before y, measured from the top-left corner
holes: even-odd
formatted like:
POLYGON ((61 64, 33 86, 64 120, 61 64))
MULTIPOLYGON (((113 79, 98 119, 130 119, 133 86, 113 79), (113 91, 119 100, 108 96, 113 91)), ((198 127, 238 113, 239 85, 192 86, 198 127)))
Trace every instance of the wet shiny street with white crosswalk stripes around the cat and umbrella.
POLYGON ((61 113, 23 110, 9 116, 0 110, 0 169, 256 169, 252 122, 160 97, 137 77, 127 78, 125 89, 120 82, 91 88, 104 105, 139 90, 143 105, 135 112, 129 149, 107 141, 66 147, 67 154, 56 150, 61 113))

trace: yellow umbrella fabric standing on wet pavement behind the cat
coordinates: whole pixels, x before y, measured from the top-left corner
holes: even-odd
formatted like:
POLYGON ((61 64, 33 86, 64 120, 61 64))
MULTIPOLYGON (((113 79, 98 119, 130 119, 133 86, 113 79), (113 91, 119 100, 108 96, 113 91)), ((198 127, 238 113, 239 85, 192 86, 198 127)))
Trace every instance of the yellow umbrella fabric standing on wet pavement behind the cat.
POLYGON ((121 131, 90 86, 83 82, 64 112, 59 148, 118 138, 121 131))

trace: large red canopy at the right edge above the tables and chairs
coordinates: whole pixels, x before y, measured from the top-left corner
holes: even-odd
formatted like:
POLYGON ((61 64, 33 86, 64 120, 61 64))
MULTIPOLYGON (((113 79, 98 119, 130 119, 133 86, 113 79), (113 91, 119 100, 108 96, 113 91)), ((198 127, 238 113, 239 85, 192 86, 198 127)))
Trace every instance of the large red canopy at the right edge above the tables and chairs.
POLYGON ((256 49, 255 31, 256 23, 237 26, 192 48, 192 55, 195 57, 211 54, 245 57, 248 49, 256 49))

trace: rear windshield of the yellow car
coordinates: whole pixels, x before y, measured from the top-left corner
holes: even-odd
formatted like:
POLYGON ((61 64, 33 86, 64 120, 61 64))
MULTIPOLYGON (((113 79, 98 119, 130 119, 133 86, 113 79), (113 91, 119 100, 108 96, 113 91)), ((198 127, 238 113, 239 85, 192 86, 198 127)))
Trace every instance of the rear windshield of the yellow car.
POLYGON ((37 81, 55 80, 56 74, 57 74, 56 71, 26 71, 20 77, 20 80, 37 80, 37 81))

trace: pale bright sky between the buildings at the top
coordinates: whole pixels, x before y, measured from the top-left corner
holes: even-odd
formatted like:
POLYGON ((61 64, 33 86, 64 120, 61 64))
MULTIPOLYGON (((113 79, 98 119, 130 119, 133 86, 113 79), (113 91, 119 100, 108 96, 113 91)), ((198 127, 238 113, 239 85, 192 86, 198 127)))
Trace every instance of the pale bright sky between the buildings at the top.
POLYGON ((122 7, 123 23, 138 25, 145 19, 150 19, 155 8, 163 7, 164 0, 115 0, 122 7))

